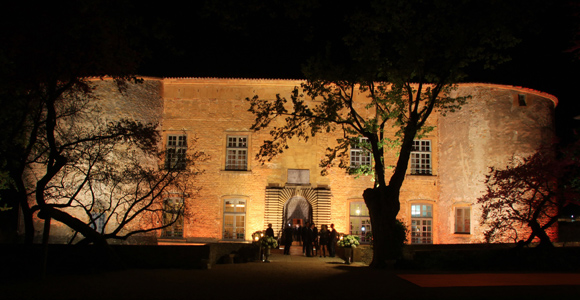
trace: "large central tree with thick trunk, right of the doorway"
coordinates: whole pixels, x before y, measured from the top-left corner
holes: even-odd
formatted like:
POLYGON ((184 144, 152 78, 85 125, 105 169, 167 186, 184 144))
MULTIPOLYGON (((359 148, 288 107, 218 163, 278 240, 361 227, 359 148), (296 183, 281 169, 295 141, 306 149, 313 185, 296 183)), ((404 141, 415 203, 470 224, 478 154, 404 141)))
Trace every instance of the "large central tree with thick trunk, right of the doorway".
MULTIPOLYGON (((511 5, 511 4, 510 4, 511 5)), ((509 5, 508 5, 509 6, 509 5)), ((341 132, 327 150, 323 169, 361 146, 373 155, 375 188, 363 193, 374 238, 373 266, 397 256, 393 245, 399 191, 407 173, 413 140, 432 130, 429 116, 461 107, 467 97, 451 97, 467 68, 505 61, 517 43, 508 6, 496 1, 365 1, 335 8, 322 17, 336 34, 318 35, 325 45, 304 68, 307 81, 290 99, 249 99, 254 130, 270 129, 259 157, 271 159, 291 138, 307 140, 320 132, 341 132), (306 99, 316 99, 309 102, 306 99), (283 119, 278 123, 276 119, 283 119), (394 130, 391 130, 394 127, 394 130), (391 132, 396 132, 394 135, 391 132), (396 162, 385 161, 395 148, 396 162), (394 166, 390 178, 386 169, 394 166)), ((324 23, 324 22, 323 22, 324 23)), ((323 171, 324 172, 324 171, 323 171)))

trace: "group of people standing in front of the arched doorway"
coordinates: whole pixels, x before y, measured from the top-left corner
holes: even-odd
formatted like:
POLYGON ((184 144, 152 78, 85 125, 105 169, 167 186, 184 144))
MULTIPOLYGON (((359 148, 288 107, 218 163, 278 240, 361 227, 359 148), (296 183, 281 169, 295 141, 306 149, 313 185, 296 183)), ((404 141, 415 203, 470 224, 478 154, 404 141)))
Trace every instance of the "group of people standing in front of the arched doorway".
POLYGON ((290 224, 286 224, 282 236, 284 255, 290 255, 290 247, 295 237, 298 237, 302 242, 302 253, 305 256, 326 257, 327 252, 330 257, 336 255, 338 232, 334 229, 334 224, 330 224, 330 229, 328 226, 322 225, 320 231, 314 223, 310 222, 306 222, 304 227, 298 227, 296 230, 290 224))

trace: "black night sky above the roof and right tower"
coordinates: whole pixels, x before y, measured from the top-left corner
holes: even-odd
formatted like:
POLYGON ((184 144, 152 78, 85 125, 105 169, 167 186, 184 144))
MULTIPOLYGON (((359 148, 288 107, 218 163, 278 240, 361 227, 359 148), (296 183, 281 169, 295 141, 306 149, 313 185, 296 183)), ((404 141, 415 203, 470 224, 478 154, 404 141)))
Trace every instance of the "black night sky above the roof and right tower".
MULTIPOLYGON (((512 51, 511 61, 495 70, 474 70, 466 81, 524 86, 555 95, 560 101, 558 132, 569 136, 570 129, 576 126, 573 117, 580 115, 576 91, 580 84, 578 54, 568 51, 574 46, 572 33, 578 31, 574 20, 577 9, 571 5, 545 12, 545 18, 538 20, 541 33, 530 30, 522 37, 512 51)), ((155 16, 167 21, 172 32, 171 46, 177 51, 160 45, 144 63, 140 75, 302 79, 301 66, 318 46, 305 41, 304 24, 263 16, 259 11, 234 19, 234 23, 241 23, 239 28, 224 25, 223 15, 212 14, 203 5, 156 8, 155 16)), ((321 30, 330 31, 323 24, 320 26, 321 30)))

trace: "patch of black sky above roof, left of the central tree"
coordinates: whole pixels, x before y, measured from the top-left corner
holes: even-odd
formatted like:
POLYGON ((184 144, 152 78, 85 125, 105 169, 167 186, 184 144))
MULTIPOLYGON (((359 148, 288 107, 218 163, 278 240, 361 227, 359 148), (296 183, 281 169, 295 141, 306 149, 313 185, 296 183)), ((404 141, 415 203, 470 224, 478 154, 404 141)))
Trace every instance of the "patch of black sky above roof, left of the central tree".
MULTIPOLYGON (((154 9, 154 16, 159 17, 154 9)), ((237 16, 236 25, 204 5, 161 9, 167 22, 171 49, 159 45, 145 62, 142 75, 159 77, 220 77, 301 79, 301 65, 311 52, 295 24, 261 12, 237 16)))

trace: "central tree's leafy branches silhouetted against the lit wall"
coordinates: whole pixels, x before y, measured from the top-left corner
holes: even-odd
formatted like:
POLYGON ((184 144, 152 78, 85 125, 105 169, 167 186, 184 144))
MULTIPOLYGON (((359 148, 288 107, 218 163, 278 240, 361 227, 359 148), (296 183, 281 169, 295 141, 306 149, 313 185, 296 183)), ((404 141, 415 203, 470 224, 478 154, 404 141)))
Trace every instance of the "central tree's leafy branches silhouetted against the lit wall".
POLYGON ((348 151, 356 145, 373 153, 375 162, 374 169, 358 166, 359 171, 376 174, 376 183, 384 186, 384 171, 388 167, 383 159, 384 151, 400 147, 409 130, 407 126, 415 131, 411 138, 427 134, 433 128, 425 123, 434 109, 455 109, 467 100, 467 97, 450 97, 449 92, 453 89, 450 85, 435 91, 432 86, 425 86, 313 80, 301 88, 296 87, 290 100, 280 96, 275 100, 260 99, 256 95, 248 99, 249 110, 256 115, 252 129, 271 128, 272 137, 260 147, 257 158, 262 162, 271 160, 287 149, 288 141, 294 137, 308 140, 320 132, 339 131, 342 138, 337 140, 335 147, 327 149, 326 158, 321 162, 323 174, 337 160, 341 168, 352 172, 348 151), (364 96, 355 99, 360 94, 364 96), (278 118, 283 122, 276 123, 278 118), (392 127, 396 127, 394 136, 388 134, 392 127), (361 141, 359 137, 368 141, 361 141))

